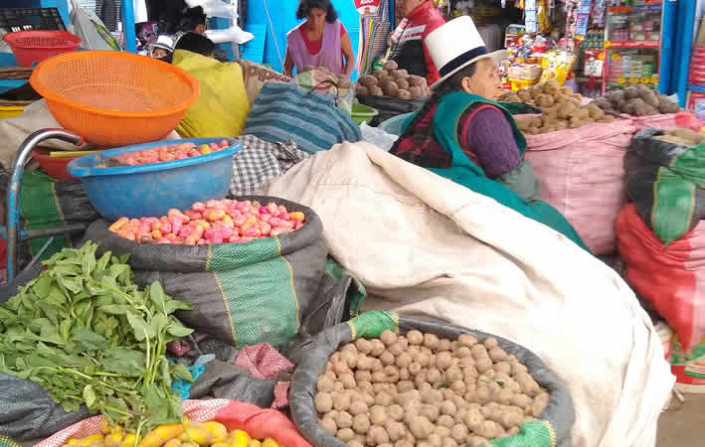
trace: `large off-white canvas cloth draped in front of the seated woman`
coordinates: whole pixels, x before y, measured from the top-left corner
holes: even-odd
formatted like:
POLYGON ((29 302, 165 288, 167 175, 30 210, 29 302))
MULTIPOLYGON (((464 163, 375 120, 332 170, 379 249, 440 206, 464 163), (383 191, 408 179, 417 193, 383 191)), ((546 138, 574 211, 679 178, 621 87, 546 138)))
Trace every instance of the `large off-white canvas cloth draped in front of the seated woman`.
POLYGON ((312 207, 367 308, 432 315, 526 346, 566 382, 573 442, 655 445, 674 378, 627 284, 552 229, 365 143, 299 163, 266 193, 312 207))

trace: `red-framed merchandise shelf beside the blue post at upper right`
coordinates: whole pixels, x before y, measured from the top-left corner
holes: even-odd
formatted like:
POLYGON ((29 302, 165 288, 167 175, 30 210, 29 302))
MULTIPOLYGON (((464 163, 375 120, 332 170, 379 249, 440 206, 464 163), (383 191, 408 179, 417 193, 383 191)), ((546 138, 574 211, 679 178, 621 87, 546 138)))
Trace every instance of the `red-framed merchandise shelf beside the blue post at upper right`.
POLYGON ((603 93, 637 84, 658 87, 662 0, 630 3, 607 8, 603 93))

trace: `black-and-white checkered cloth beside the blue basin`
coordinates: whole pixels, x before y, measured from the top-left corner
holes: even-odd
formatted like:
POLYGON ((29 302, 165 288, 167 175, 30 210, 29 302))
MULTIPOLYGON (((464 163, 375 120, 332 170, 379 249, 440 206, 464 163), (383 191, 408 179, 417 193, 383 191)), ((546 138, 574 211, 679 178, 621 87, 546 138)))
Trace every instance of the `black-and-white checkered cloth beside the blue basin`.
POLYGON ((282 176, 296 163, 310 157, 296 143, 268 143, 254 135, 240 137, 242 149, 233 157, 233 180, 230 193, 251 195, 257 188, 282 176))

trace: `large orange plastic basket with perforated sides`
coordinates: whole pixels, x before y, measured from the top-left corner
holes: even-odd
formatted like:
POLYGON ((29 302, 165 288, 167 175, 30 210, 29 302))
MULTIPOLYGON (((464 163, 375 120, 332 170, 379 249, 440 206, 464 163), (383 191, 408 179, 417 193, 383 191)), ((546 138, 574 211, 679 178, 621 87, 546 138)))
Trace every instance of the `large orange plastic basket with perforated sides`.
POLYGON ((29 82, 59 124, 100 147, 161 140, 198 99, 198 81, 185 71, 113 51, 46 59, 29 82))

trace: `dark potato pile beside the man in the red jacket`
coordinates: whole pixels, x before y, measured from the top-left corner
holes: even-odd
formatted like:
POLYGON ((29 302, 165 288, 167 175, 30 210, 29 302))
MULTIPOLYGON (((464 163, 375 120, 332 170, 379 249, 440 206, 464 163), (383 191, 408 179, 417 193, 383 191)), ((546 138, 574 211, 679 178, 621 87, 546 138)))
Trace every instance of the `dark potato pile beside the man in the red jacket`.
POLYGON ((399 66, 394 61, 384 64, 384 67, 374 76, 362 76, 355 91, 358 95, 390 96, 403 100, 431 95, 426 78, 409 75, 406 70, 399 70, 399 66))

